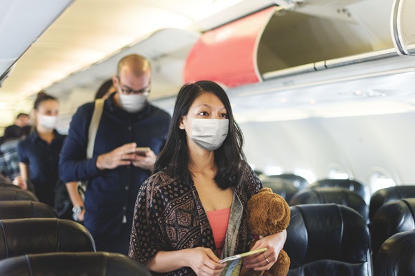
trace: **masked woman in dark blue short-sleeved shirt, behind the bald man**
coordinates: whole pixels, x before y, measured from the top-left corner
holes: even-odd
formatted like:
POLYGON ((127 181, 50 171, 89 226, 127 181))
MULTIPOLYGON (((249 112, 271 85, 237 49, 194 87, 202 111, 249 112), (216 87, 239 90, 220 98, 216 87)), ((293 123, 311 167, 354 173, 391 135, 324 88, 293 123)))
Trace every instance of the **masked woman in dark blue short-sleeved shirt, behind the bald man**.
POLYGON ((59 115, 57 98, 40 92, 33 115, 32 134, 17 145, 21 178, 14 184, 27 189, 30 180, 39 201, 53 207, 55 184, 59 180, 59 153, 65 138, 55 129, 59 115))

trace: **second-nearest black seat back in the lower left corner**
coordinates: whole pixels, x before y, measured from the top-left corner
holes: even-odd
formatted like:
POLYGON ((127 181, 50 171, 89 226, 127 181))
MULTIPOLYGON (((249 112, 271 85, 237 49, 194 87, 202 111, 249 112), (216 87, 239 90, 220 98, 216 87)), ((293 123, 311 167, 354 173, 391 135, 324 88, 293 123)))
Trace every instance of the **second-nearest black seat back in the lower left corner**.
POLYGON ((0 259, 35 253, 94 252, 85 226, 57 218, 0 220, 0 259))

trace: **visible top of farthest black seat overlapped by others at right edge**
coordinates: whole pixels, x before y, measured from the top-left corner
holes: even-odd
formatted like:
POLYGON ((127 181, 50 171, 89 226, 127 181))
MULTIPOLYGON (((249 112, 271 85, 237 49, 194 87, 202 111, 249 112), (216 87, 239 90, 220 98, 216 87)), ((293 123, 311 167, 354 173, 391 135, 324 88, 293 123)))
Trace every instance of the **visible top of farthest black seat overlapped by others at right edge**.
POLYGON ((403 198, 415 198, 415 185, 394 186, 376 191, 370 198, 370 220, 372 221, 374 214, 383 204, 403 198))

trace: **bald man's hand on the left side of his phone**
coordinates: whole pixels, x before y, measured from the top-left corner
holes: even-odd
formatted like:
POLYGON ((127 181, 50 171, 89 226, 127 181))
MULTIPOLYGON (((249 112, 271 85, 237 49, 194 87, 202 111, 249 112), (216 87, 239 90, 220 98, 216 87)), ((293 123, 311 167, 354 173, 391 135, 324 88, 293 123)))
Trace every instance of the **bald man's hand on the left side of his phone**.
POLYGON ((131 142, 117 147, 117 149, 108 153, 101 154, 97 158, 97 168, 102 171, 103 169, 115 169, 119 166, 128 166, 136 158, 136 146, 135 142, 131 142))

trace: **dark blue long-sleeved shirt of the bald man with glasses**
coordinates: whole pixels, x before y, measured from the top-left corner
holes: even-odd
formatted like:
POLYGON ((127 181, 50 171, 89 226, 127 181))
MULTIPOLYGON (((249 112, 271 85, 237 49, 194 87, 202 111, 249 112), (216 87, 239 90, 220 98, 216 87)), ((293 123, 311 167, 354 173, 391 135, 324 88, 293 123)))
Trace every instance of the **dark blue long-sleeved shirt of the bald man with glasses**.
POLYGON ((167 112, 147 104, 143 111, 130 114, 114 105, 113 97, 105 100, 92 159, 87 160, 86 150, 94 103, 79 107, 72 117, 61 153, 63 181, 88 180, 84 224, 92 235, 119 235, 123 217, 132 224, 136 196, 150 176, 150 171, 133 165, 99 171, 97 157, 130 142, 159 154, 170 127, 167 112))

